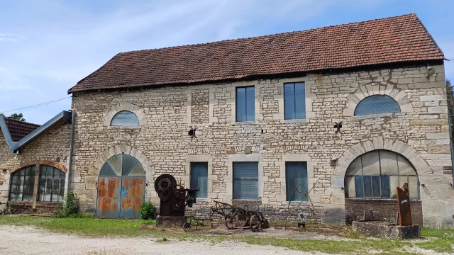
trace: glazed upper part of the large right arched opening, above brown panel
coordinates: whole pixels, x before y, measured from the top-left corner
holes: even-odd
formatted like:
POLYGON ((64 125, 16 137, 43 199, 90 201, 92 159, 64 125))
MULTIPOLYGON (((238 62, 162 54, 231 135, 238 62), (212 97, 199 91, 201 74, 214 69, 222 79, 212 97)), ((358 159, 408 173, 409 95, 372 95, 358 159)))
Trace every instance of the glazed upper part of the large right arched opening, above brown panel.
POLYGON ((414 166, 400 154, 375 150, 357 157, 345 173, 346 198, 397 198, 396 187, 409 184, 410 199, 419 199, 414 166))

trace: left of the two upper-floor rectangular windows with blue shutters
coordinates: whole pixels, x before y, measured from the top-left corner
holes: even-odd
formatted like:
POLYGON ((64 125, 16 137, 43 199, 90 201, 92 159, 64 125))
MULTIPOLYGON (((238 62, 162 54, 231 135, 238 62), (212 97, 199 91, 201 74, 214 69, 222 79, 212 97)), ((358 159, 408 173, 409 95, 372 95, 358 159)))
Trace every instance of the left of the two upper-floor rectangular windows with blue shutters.
POLYGON ((255 120, 255 87, 236 88, 236 121, 255 120))

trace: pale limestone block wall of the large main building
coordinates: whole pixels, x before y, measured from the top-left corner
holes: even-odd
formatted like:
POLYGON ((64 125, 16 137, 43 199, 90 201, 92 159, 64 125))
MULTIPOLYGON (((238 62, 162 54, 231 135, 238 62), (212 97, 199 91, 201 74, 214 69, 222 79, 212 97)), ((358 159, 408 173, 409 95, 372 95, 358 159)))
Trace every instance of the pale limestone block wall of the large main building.
MULTIPOLYGON (((307 74, 194 86, 127 91, 77 92, 71 185, 84 210, 96 208, 100 166, 109 155, 133 154, 146 173, 145 198, 158 203, 153 183, 172 174, 189 186, 189 163, 209 162, 209 198, 232 203, 232 164, 259 162, 259 203, 265 212, 284 217, 297 205, 286 201, 286 161, 308 162, 309 196, 322 222, 345 224, 344 175, 350 162, 373 149, 403 154, 420 175, 423 222, 454 225, 448 108, 443 65, 426 77, 426 66, 307 74), (306 118, 284 120, 283 85, 306 85, 306 118), (255 86, 255 120, 235 118, 236 87, 255 86), (362 98, 392 96, 401 113, 353 116, 362 98), (134 108, 138 127, 109 128, 114 111, 134 108), (336 133, 334 123, 343 123, 336 133), (196 126, 196 137, 189 137, 196 126), (336 166, 331 160, 338 159, 336 166)), ((238 202, 238 201, 233 201, 238 202)), ((242 201, 244 202, 244 201, 242 201)), ((246 201, 248 202, 248 201, 246 201)), ((305 203, 309 206, 309 203, 305 203)))

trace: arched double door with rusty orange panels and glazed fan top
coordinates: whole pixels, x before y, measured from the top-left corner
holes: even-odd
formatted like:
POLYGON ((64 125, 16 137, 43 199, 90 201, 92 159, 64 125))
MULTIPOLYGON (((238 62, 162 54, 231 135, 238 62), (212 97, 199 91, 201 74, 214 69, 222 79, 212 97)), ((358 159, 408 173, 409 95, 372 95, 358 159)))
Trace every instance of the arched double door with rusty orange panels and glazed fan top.
POLYGON ((145 171, 135 157, 118 154, 99 171, 96 217, 138 218, 145 199, 145 171))

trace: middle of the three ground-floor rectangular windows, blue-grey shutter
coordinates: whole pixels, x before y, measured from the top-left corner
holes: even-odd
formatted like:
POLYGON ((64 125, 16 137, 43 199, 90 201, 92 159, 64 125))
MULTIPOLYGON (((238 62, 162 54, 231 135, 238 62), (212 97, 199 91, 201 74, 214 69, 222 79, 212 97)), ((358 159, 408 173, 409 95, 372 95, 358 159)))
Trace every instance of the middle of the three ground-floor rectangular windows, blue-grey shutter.
POLYGON ((233 199, 258 200, 258 162, 233 163, 233 199))

